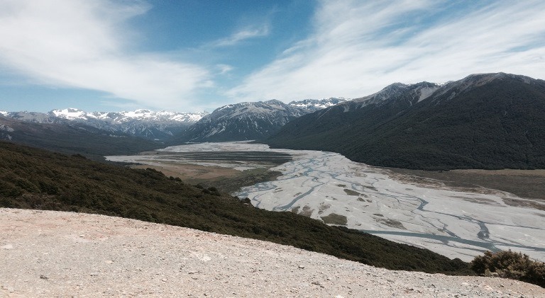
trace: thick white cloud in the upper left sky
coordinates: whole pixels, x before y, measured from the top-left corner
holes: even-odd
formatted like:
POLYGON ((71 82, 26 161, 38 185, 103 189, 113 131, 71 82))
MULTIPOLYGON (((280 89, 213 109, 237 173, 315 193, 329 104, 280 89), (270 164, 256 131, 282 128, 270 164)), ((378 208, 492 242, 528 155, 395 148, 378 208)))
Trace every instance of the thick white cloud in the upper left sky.
MULTIPOLYGON (((150 6, 141 1, 3 0, 0 64, 35 84, 104 91, 140 105, 186 109, 209 72, 153 53, 131 53, 136 33, 126 21, 150 6)), ((97 101, 99 98, 97 98, 97 101)))

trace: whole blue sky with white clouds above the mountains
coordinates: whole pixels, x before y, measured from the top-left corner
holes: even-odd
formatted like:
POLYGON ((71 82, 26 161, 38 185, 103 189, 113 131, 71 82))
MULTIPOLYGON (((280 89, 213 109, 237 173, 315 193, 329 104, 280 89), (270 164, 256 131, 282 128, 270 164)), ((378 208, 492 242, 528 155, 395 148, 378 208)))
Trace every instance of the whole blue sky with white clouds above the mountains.
POLYGON ((545 79, 545 1, 0 0, 0 110, 193 112, 545 79))

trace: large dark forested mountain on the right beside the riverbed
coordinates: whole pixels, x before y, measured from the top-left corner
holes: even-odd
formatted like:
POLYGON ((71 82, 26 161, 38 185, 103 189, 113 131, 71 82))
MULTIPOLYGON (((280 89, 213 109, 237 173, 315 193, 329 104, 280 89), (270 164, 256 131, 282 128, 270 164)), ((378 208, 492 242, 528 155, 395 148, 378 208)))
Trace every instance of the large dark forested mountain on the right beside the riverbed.
POLYGON ((545 168, 545 81, 499 73, 392 84, 297 118, 266 142, 374 166, 545 168))

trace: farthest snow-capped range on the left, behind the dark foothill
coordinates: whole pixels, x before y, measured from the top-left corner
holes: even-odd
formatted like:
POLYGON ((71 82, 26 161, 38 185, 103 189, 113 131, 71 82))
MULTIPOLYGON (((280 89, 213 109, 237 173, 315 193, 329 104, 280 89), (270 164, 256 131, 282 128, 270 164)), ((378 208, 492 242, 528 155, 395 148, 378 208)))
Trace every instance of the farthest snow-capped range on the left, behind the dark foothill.
POLYGON ((92 112, 76 108, 51 110, 49 113, 6 112, 2 115, 17 120, 37 123, 84 123, 101 130, 131 134, 147 139, 165 140, 179 134, 199 121, 207 112, 177 113, 134 110, 123 112, 92 112))

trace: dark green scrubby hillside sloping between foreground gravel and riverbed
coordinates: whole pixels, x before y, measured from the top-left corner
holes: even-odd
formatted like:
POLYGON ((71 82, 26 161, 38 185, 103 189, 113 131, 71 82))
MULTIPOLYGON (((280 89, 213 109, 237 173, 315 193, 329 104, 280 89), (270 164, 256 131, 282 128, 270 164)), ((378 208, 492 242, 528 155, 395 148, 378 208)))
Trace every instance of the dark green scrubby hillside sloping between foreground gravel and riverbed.
POLYGON ((394 270, 471 274, 468 263, 292 212, 270 212, 155 170, 0 142, 0 207, 89 212, 282 243, 394 270))

